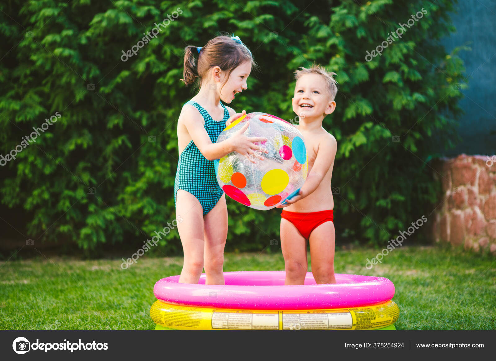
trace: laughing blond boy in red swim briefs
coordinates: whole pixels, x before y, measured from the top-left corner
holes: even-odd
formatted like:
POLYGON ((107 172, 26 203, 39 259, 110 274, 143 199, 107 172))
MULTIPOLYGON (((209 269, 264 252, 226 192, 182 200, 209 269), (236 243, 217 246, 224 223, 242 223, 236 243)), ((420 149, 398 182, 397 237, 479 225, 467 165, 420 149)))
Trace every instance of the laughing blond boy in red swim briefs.
POLYGON ((336 139, 322 128, 322 121, 336 108, 337 82, 323 67, 312 65, 295 71, 293 111, 300 116, 296 127, 303 134, 308 155, 308 176, 299 194, 285 204, 281 214, 281 248, 286 285, 303 285, 307 274, 307 240, 313 277, 317 284, 336 283, 334 277, 334 200, 331 175, 336 139))

